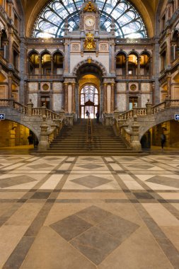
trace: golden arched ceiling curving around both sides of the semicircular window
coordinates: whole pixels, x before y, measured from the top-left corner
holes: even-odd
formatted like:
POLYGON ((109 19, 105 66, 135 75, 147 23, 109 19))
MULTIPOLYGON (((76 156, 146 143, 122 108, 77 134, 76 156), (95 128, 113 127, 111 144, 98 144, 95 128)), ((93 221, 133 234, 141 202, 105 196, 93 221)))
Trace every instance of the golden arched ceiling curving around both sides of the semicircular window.
MULTIPOLYGON (((25 13, 25 34, 31 35, 31 31, 35 20, 44 6, 49 0, 21 0, 23 4, 23 11, 25 13)), ((75 1, 75 0, 74 0, 75 1)), ((146 29, 149 33, 149 37, 154 36, 155 32, 155 14, 158 7, 159 0, 129 0, 144 18, 146 29)))

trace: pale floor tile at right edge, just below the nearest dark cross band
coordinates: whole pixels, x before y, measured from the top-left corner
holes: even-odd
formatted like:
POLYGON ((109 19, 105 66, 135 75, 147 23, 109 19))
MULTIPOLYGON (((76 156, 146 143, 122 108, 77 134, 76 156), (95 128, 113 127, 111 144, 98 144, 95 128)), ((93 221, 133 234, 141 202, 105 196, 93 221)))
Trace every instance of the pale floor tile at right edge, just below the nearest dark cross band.
POLYGON ((143 204, 143 207, 159 226, 179 226, 179 220, 168 212, 163 205, 143 204))

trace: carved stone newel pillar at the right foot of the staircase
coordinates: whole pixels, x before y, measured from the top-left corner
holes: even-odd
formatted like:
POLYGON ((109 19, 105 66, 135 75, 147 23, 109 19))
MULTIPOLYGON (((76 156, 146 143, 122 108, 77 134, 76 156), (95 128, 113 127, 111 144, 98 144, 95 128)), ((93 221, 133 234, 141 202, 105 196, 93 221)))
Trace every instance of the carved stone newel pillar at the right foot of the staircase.
POLYGON ((137 115, 134 116, 132 123, 131 147, 133 151, 142 151, 141 143, 139 142, 139 123, 137 122, 137 115))

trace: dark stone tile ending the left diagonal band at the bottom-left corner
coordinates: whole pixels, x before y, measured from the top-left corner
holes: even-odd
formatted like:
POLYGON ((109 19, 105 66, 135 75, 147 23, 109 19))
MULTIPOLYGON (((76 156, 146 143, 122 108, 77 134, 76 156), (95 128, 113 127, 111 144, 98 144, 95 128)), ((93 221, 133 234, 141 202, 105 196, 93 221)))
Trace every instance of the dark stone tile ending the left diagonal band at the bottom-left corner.
POLYGON ((3 266, 3 269, 18 269, 21 268, 27 253, 34 241, 33 237, 23 237, 16 246, 11 256, 8 258, 3 266))

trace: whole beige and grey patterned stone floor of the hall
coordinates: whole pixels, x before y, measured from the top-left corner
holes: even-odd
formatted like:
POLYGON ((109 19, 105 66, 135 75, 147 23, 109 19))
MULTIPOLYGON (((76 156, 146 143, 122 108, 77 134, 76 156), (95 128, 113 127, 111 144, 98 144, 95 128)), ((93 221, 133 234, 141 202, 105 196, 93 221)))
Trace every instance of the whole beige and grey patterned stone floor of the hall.
POLYGON ((179 268, 179 155, 0 155, 0 268, 179 268))

